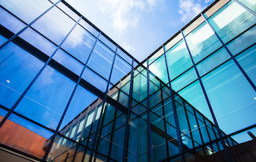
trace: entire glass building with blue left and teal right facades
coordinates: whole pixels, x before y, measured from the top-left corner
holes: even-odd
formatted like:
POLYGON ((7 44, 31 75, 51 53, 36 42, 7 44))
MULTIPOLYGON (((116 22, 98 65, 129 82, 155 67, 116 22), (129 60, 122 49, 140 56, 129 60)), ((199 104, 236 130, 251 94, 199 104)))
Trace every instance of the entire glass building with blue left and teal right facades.
POLYGON ((256 161, 256 1, 214 1, 141 63, 65 1, 0 5, 3 160, 256 161))

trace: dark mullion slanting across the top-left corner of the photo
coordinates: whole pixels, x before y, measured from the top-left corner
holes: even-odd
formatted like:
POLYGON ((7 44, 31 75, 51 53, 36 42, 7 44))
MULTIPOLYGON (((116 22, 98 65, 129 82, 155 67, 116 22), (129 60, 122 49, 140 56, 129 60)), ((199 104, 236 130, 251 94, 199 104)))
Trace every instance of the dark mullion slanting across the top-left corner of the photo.
MULTIPOLYGON (((44 11, 44 13, 40 14, 36 19, 34 19, 32 22, 30 22, 29 24, 27 24, 24 28, 22 28, 19 32, 17 32, 15 35, 13 35, 11 38, 9 38, 9 40, 5 41, 5 43, 3 43, 0 46, 0 49, 2 49, 3 47, 5 47, 5 45, 7 45, 8 43, 10 43, 13 39, 15 39, 18 35, 20 35, 22 32, 24 32, 24 30, 26 30, 27 28, 29 28, 30 26, 32 26, 32 24, 34 24, 39 18, 41 18, 42 16, 44 16, 44 14, 48 13, 48 11, 50 11, 53 7, 55 7, 61 0, 57 1, 55 4, 53 4, 51 7, 49 7, 49 9, 47 9, 46 11, 44 11)), ((79 20, 78 20, 79 21, 79 20)))

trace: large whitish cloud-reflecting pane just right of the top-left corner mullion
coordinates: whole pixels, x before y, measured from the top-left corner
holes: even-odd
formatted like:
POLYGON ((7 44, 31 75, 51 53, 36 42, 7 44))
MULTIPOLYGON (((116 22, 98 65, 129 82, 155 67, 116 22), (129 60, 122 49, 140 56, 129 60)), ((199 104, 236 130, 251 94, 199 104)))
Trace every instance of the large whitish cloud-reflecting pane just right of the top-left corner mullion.
POLYGON ((53 9, 32 24, 32 27, 59 45, 74 25, 74 20, 57 9, 57 7, 53 7, 53 9))

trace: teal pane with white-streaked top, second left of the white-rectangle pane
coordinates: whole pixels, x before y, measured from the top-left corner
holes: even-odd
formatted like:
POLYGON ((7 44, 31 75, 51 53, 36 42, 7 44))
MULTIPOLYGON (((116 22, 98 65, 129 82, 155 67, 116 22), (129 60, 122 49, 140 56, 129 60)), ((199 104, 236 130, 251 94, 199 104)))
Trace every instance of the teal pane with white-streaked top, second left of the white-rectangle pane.
POLYGON ((184 40, 179 41, 179 43, 166 52, 166 61, 170 80, 173 80, 182 72, 193 66, 184 40))

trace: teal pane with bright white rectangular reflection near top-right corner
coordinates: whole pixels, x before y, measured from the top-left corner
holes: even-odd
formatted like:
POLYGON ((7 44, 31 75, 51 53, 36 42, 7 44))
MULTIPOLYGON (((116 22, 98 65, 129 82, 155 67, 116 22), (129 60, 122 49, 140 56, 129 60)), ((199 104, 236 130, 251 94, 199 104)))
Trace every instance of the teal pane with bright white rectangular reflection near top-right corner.
POLYGON ((256 17, 238 3, 230 1, 222 9, 214 13, 208 21, 222 41, 227 43, 254 25, 256 17))

